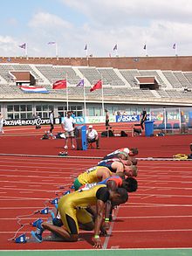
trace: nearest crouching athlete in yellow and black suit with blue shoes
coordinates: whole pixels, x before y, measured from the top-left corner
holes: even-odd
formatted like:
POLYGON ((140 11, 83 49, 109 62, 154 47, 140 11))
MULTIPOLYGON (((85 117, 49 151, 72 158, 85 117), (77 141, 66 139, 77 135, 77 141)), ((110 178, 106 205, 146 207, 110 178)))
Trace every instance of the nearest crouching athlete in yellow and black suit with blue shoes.
POLYGON ((103 223, 105 204, 110 201, 113 206, 124 204, 128 200, 127 190, 119 188, 108 190, 105 185, 97 185, 91 190, 75 191, 61 197, 58 202, 58 212, 63 222, 59 227, 50 223, 39 223, 36 232, 31 232, 33 237, 41 242, 45 230, 56 234, 64 241, 76 242, 79 239, 79 224, 86 230, 93 230, 93 247, 101 248, 102 242, 99 232, 103 223), (96 218, 93 223, 92 216, 86 211, 86 207, 96 205, 96 218))

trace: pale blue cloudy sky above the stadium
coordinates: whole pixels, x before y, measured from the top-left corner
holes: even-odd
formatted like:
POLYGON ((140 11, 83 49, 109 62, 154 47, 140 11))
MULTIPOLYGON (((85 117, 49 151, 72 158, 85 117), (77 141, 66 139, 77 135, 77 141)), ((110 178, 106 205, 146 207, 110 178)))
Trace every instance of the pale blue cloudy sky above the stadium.
POLYGON ((6 0, 0 56, 191 55, 191 0, 6 0), (118 50, 113 51, 113 46, 118 50), (176 44, 176 50, 173 45, 176 44), (143 46, 147 45, 147 50, 143 46), (176 52, 175 52, 176 51, 176 52))

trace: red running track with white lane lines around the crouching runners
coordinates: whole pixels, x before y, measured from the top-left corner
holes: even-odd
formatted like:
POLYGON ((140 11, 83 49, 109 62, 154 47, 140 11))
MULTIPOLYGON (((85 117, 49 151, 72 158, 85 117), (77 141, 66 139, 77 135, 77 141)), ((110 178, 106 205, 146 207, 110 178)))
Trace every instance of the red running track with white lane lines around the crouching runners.
MULTIPOLYGON (((186 148, 187 149, 187 148, 186 148)), ((94 152, 94 150, 92 150, 94 152)), ((15 244, 8 239, 47 215, 31 215, 72 185, 74 176, 97 163, 93 159, 0 156, 0 249, 92 249, 93 232, 77 243, 15 244), (65 189, 61 189, 64 186, 65 189), (25 216, 24 216, 25 215, 25 216)), ((192 246, 192 164, 189 161, 139 161, 139 190, 115 212, 105 248, 173 248, 192 246)))

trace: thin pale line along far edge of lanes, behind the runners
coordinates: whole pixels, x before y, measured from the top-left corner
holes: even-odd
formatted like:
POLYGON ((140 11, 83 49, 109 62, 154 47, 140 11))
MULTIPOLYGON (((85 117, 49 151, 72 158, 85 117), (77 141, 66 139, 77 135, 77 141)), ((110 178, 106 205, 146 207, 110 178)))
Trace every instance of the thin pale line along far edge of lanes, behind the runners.
MULTIPOLYGON (((49 156, 49 155, 28 155, 28 154, 3 154, 0 156, 23 156, 23 157, 48 157, 48 158, 79 158, 79 159, 102 159, 100 156, 49 156)), ((140 161, 192 161, 192 159, 177 159, 168 157, 138 157, 140 161)))

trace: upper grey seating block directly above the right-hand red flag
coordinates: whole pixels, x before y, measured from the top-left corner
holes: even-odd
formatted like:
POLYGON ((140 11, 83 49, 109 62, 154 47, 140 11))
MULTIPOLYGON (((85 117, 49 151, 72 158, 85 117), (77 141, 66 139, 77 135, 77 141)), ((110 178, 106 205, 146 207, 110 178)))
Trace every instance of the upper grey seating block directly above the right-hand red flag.
MULTIPOLYGON (((95 84, 98 80, 101 80, 101 75, 95 67, 79 67, 79 71, 91 85, 95 84)), ((103 80, 103 84, 107 84, 107 81, 103 80)))

